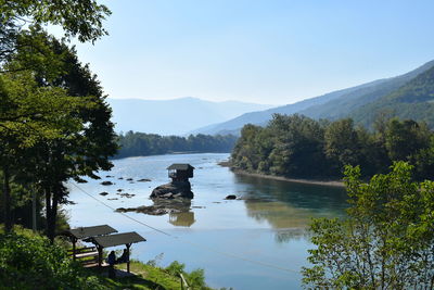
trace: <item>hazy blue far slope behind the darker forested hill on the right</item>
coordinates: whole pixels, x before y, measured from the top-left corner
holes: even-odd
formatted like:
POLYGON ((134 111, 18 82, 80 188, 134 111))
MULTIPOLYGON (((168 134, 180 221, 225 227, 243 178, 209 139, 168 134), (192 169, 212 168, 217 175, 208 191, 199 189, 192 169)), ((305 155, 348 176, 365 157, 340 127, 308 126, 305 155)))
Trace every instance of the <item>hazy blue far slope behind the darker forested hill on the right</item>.
POLYGON ((392 93, 406 83, 410 81, 419 74, 434 66, 434 61, 431 61, 417 70, 407 74, 374 80, 360 86, 333 91, 316 98, 307 99, 294 104, 272 108, 265 111, 251 112, 229 119, 224 123, 214 124, 202 127, 193 133, 203 134, 221 134, 221 133, 238 133, 245 124, 265 125, 272 114, 294 114, 299 113, 312 118, 329 118, 336 119, 347 116, 356 109, 363 106, 370 102, 392 93))

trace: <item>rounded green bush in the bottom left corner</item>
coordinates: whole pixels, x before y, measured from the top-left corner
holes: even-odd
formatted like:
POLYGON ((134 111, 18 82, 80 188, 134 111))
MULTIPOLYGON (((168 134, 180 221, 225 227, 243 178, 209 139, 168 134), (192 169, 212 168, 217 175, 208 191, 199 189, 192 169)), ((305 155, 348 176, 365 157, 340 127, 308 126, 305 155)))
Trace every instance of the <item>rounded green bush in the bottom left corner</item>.
POLYGON ((0 234, 0 280, 8 289, 101 289, 67 256, 66 251, 47 238, 28 231, 0 234))

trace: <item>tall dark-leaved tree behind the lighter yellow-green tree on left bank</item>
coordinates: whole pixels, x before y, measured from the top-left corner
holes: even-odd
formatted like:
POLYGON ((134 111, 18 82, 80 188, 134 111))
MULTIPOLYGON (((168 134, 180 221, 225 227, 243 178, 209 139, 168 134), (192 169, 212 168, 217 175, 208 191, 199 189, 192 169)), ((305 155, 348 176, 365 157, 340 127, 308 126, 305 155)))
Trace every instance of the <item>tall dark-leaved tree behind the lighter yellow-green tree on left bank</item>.
POLYGON ((62 88, 69 99, 81 104, 63 116, 76 118, 76 127, 65 126, 59 137, 43 139, 33 147, 35 179, 46 196, 47 234, 53 240, 59 204, 67 201, 63 182, 79 176, 98 178, 95 172, 113 166, 108 157, 116 153, 117 144, 112 111, 97 76, 78 61, 74 49, 55 39, 49 42, 56 54, 64 55, 63 73, 50 80, 43 72, 37 72, 36 79, 40 86, 62 88))

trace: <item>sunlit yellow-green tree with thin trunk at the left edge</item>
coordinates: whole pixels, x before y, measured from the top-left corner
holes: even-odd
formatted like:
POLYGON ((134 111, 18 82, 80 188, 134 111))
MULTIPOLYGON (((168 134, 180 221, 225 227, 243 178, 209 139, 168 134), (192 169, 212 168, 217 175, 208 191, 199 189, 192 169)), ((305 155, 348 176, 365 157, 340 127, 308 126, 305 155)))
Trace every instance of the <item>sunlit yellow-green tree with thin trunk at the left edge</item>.
POLYGON ((62 88, 40 87, 29 72, 0 75, 0 160, 3 172, 5 229, 12 228, 10 180, 28 168, 28 150, 42 139, 59 138, 64 127, 80 125, 73 114, 86 103, 67 97, 62 88), (27 167, 26 167, 27 166, 27 167))

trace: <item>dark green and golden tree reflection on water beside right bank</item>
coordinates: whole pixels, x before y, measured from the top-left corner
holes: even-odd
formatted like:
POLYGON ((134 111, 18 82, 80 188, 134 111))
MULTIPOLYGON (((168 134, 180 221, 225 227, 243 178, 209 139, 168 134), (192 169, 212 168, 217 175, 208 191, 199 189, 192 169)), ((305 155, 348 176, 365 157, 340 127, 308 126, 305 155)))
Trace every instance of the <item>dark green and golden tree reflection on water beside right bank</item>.
POLYGON ((247 216, 268 223, 279 243, 306 239, 311 218, 344 216, 344 188, 286 182, 235 175, 247 216))

